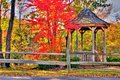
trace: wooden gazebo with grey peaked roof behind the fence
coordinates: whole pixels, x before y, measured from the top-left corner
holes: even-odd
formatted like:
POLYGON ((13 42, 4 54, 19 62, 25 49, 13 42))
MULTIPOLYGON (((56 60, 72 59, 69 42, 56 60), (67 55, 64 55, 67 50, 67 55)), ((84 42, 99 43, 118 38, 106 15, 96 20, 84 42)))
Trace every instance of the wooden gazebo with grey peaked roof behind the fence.
POLYGON ((102 50, 102 62, 106 62, 106 29, 109 27, 109 23, 105 22, 104 20, 100 19, 98 16, 96 16, 90 9, 83 9, 78 16, 72 20, 72 24, 77 25, 79 27, 78 30, 72 30, 72 32, 69 33, 68 39, 67 39, 67 53, 68 57, 69 52, 71 53, 71 46, 72 46, 72 33, 76 31, 76 53, 83 54, 81 56, 82 61, 96 61, 95 56, 97 55, 96 51, 96 34, 98 30, 102 30, 103 32, 103 50, 102 50), (92 33, 92 50, 91 51, 83 51, 83 34, 85 31, 91 31, 92 33), (78 34, 81 35, 81 44, 78 45, 78 34), (81 46, 81 50, 78 50, 78 46, 81 46), (86 54, 86 56, 84 56, 86 54), (92 55, 90 55, 92 54, 92 55), (88 59, 89 58, 89 59, 88 59))

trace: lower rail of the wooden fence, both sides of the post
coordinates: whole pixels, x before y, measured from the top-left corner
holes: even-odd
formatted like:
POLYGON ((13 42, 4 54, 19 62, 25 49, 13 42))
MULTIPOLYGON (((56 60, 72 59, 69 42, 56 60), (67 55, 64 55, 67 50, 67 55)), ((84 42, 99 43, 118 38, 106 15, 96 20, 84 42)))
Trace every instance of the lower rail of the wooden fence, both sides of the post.
MULTIPOLYGON (((0 63, 24 63, 24 64, 43 64, 43 65, 67 65, 66 61, 43 61, 43 60, 24 60, 24 59, 0 59, 0 63)), ((114 65, 120 66, 120 62, 70 62, 79 65, 114 65)))

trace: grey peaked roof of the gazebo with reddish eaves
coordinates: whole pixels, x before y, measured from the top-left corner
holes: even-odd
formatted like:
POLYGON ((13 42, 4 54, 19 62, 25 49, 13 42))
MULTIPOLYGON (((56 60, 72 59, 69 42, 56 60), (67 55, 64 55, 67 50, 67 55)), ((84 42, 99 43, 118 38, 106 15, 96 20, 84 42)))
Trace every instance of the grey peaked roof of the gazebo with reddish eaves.
POLYGON ((109 27, 109 23, 100 19, 96 16, 91 10, 85 8, 83 9, 78 16, 73 19, 73 24, 79 25, 81 27, 109 27))

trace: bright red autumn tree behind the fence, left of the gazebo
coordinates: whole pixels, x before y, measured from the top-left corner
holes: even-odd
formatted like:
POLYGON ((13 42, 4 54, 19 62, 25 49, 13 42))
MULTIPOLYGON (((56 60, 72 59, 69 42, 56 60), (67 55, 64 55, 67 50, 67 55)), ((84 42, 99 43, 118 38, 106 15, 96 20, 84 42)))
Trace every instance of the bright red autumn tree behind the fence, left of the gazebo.
MULTIPOLYGON (((27 7, 34 7, 32 14, 36 14, 29 23, 36 32, 34 42, 39 43, 38 52, 61 52, 64 39, 60 37, 62 29, 77 29, 70 21, 75 17, 69 0, 29 0, 27 7)), ((65 43, 64 43, 65 44, 65 43)))

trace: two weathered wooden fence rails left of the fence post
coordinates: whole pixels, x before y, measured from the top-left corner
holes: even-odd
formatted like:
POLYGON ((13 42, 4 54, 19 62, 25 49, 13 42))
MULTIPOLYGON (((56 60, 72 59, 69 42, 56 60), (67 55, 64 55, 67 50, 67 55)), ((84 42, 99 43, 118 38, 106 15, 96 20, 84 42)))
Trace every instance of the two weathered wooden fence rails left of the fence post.
MULTIPOLYGON (((2 52, 3 54, 19 54, 19 55, 57 55, 65 56, 65 53, 36 53, 36 52, 2 52)), ((0 59, 0 63, 28 63, 28 64, 44 64, 44 65, 66 65, 63 61, 43 61, 43 60, 26 60, 26 59, 0 59)))

